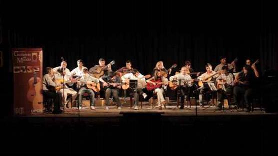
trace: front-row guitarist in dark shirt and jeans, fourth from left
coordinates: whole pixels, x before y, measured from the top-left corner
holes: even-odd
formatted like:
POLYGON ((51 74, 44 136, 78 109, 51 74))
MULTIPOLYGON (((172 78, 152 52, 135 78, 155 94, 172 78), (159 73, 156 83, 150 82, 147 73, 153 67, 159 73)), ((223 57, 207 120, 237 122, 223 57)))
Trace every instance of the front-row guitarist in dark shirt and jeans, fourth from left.
POLYGON ((99 78, 99 81, 103 83, 103 87, 105 89, 105 109, 108 110, 108 106, 110 104, 109 98, 112 94, 113 99, 115 99, 117 103, 117 108, 121 109, 121 103, 118 98, 119 89, 121 85, 113 84, 109 85, 108 83, 120 83, 120 78, 115 75, 113 71, 110 71, 108 75, 102 76, 99 78))

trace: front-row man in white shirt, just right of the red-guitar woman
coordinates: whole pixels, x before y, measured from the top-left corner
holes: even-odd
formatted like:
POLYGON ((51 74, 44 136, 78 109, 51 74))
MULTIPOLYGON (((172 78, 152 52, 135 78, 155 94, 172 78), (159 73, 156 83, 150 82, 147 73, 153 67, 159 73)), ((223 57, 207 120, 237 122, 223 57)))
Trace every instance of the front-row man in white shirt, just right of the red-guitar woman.
POLYGON ((192 79, 190 75, 186 73, 186 67, 183 66, 181 67, 180 73, 171 76, 170 81, 176 80, 177 84, 180 85, 178 87, 179 92, 180 92, 180 107, 179 109, 184 108, 184 99, 188 98, 189 96, 189 87, 192 86, 192 79), (179 83, 180 82, 180 83, 179 83))

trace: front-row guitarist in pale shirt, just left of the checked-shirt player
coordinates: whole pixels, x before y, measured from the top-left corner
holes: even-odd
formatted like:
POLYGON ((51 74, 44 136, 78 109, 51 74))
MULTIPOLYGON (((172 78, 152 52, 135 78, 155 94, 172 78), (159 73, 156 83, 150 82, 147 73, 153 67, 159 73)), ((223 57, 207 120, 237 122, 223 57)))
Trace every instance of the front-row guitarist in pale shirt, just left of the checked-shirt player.
MULTIPOLYGON (((205 70, 206 72, 201 74, 200 76, 197 77, 198 80, 203 81, 206 77, 209 77, 211 75, 214 75, 216 72, 212 70, 212 66, 211 64, 207 63, 205 65, 205 70)), ((217 75, 212 77, 212 81, 214 81, 216 79, 217 75)), ((205 94, 205 92, 208 90, 208 86, 201 86, 200 88, 198 88, 199 90, 199 105, 200 107, 203 107, 203 100, 202 97, 205 94)))

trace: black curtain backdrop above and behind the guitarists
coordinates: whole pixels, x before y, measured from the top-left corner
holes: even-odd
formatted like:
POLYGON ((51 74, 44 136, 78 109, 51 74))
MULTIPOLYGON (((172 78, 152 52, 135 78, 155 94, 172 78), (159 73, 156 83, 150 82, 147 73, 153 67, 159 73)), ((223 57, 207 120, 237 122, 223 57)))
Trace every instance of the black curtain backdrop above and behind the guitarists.
MULTIPOLYGON (((115 60, 113 69, 130 59, 143 74, 155 63, 196 71, 205 63, 246 57, 260 67, 277 69, 276 30, 270 2, 254 1, 16 1, 3 3, 5 47, 43 47, 43 65, 55 67, 60 57, 68 68, 83 59, 86 67, 100 57, 115 60), (13 10, 13 11, 11 11, 13 10)), ((9 64, 11 64, 9 62, 9 64)), ((240 70, 240 69, 238 69, 240 70)))

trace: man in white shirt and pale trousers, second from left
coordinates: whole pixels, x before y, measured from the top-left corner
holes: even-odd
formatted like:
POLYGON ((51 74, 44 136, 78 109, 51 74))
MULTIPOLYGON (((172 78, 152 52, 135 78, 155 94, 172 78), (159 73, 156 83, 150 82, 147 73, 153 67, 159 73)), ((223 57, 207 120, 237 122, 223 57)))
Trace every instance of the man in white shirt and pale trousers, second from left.
MULTIPOLYGON (((65 83, 71 84, 70 72, 69 72, 69 69, 66 68, 66 65, 67 65, 67 63, 65 61, 62 61, 61 66, 53 68, 53 71, 55 73, 55 80, 59 81, 60 83, 63 83, 63 79, 64 79, 65 83)), ((63 98, 64 104, 65 104, 66 108, 68 108, 69 101, 66 101, 67 95, 71 95, 72 102, 74 102, 75 98, 77 97, 77 92, 74 91, 72 88, 68 88, 65 84, 64 84, 64 87, 65 88, 60 89, 59 92, 63 95, 62 98, 63 98)))

